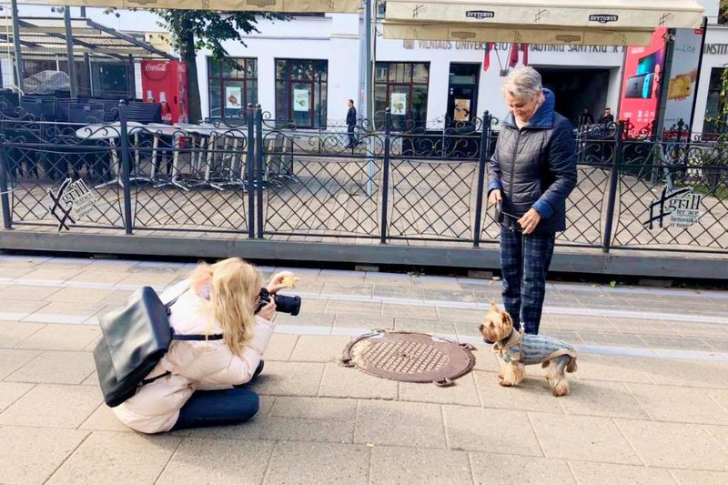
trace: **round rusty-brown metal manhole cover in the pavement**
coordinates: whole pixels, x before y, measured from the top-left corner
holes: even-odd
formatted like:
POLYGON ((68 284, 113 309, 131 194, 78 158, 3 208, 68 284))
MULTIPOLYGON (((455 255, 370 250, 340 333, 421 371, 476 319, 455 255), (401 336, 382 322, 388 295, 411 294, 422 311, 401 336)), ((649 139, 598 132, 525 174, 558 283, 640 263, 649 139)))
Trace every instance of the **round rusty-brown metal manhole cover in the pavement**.
POLYGON ((450 386, 475 365, 473 349, 424 333, 376 330, 349 343, 341 364, 385 379, 450 386))

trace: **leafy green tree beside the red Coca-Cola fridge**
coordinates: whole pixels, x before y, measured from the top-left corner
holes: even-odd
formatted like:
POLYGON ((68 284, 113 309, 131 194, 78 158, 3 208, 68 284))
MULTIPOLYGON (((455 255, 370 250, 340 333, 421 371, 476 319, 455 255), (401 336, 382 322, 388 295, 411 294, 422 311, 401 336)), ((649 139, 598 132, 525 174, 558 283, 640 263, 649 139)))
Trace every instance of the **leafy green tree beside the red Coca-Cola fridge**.
MULTIPOLYGON (((259 33, 258 20, 288 20, 287 15, 271 12, 230 12, 222 13, 209 10, 164 10, 150 9, 171 35, 172 47, 177 50, 182 62, 187 66, 188 115, 191 122, 202 119, 199 83, 197 82, 197 51, 207 48, 213 58, 227 59, 223 43, 238 41, 242 45, 241 33, 259 33)), ((108 11, 107 11, 108 12, 108 11)), ((236 67, 230 62, 230 66, 236 67)))

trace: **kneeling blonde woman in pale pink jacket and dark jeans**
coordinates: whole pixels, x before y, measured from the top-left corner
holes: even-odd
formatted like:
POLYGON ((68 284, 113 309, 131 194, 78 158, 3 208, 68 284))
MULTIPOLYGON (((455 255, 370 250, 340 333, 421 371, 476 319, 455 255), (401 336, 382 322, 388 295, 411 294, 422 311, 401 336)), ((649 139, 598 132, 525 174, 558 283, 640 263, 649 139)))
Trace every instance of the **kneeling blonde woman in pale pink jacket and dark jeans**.
MULTIPOLYGON (((283 272, 268 284, 284 288, 283 272)), ((114 408, 126 426, 143 433, 236 424, 258 412, 258 394, 238 388, 262 370, 273 335, 276 304, 255 314, 262 277, 240 258, 200 264, 186 281, 169 288, 162 301, 177 302, 169 322, 176 334, 215 335, 218 340, 173 340, 169 351, 134 397, 114 408)))

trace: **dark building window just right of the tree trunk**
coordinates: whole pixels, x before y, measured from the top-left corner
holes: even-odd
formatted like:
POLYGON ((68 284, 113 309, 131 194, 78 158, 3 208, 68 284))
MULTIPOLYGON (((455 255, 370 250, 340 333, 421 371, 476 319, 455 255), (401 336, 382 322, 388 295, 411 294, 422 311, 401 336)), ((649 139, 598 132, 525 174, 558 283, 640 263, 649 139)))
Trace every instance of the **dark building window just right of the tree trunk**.
POLYGON ((210 117, 244 117, 246 106, 258 103, 258 60, 208 57, 207 89, 210 117))

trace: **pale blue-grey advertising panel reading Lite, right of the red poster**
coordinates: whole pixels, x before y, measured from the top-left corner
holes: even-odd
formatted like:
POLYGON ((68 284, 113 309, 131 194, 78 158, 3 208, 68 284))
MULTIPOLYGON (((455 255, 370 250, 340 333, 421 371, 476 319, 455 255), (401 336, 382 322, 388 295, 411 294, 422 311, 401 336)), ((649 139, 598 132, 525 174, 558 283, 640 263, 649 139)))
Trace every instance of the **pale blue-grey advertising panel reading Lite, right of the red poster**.
MULTIPOLYGON (((675 46, 667 87, 667 106, 664 127, 670 130, 680 120, 693 123, 693 100, 697 88, 698 63, 703 43, 703 29, 679 28, 675 31, 675 46)), ((684 129, 684 128, 683 128, 684 129)))

